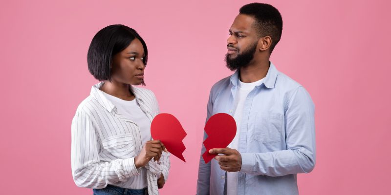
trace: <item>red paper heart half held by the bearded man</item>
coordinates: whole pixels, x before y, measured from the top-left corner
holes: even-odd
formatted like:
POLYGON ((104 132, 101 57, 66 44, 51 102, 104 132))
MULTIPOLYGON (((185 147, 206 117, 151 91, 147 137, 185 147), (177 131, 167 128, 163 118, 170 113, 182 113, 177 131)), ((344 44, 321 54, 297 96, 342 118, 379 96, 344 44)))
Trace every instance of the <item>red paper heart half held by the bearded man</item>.
POLYGON ((236 122, 234 117, 225 113, 218 113, 209 118, 205 125, 205 132, 208 137, 205 139, 205 153, 202 155, 205 164, 217 154, 210 154, 213 148, 226 148, 236 135, 236 122))

